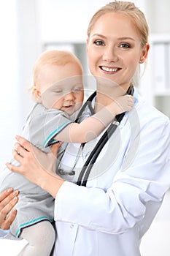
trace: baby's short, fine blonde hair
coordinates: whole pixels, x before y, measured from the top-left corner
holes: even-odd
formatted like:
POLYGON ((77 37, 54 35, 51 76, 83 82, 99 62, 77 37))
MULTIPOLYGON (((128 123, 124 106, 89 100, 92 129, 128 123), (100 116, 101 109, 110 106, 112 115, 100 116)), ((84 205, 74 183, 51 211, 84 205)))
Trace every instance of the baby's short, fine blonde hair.
POLYGON ((80 60, 73 53, 66 50, 47 50, 36 59, 33 68, 33 86, 29 89, 31 90, 34 99, 36 99, 34 96, 34 88, 37 87, 41 69, 45 66, 64 66, 68 63, 77 63, 80 66, 80 69, 82 69, 80 60))

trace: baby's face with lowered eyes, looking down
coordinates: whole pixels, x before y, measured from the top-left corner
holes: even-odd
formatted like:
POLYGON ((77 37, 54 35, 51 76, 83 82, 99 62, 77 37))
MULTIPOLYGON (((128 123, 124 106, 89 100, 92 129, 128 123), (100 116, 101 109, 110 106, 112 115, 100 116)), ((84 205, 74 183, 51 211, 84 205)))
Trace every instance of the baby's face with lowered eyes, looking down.
POLYGON ((45 108, 62 110, 71 116, 82 106, 82 70, 77 63, 44 67, 39 84, 45 108))

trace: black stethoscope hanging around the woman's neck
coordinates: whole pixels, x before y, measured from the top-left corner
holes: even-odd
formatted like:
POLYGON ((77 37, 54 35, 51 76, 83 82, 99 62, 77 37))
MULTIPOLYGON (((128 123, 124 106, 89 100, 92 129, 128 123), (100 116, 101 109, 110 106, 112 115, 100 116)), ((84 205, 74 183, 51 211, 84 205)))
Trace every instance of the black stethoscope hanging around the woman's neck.
MULTIPOLYGON (((128 88, 128 91, 126 92, 126 94, 133 95, 134 94, 134 86, 130 86, 128 88)), ((77 116, 76 121, 78 121, 83 116, 83 112, 85 111, 85 108, 87 108, 87 107, 89 108, 91 113, 93 113, 93 108, 92 108, 91 102, 93 101, 94 97, 96 97, 96 91, 90 95, 90 97, 87 99, 85 104, 82 106, 80 113, 77 116)), ((77 185, 86 187, 88 177, 90 175, 90 171, 93 167, 93 164, 96 162, 96 159, 98 158, 98 155, 100 154, 102 148, 104 148, 104 145, 107 143, 109 138, 115 132, 115 130, 117 129, 117 127, 120 124, 120 121, 122 121, 124 116, 125 116, 125 112, 121 113, 120 115, 115 116, 112 123, 109 124, 109 127, 107 128, 107 130, 104 132, 104 134, 98 140, 98 143, 96 143, 96 146, 93 148, 93 151, 91 151, 88 159, 86 160, 84 166, 82 167, 80 175, 77 178, 77 182, 76 182, 77 185)), ((84 145, 85 145, 85 143, 82 143, 80 148, 83 148, 84 145)), ((77 154, 77 158, 78 158, 78 156, 79 156, 79 153, 77 154)), ((77 159, 76 159, 76 162, 77 162, 77 159)), ((75 165, 76 164, 74 164, 74 167, 75 167, 75 165)), ((72 171, 69 173, 69 175, 71 175, 71 176, 75 174, 74 167, 73 167, 72 171)), ((59 173, 62 175, 63 170, 60 169, 60 171, 59 171, 59 173)), ((63 174, 64 174, 64 171, 63 171, 63 174)))

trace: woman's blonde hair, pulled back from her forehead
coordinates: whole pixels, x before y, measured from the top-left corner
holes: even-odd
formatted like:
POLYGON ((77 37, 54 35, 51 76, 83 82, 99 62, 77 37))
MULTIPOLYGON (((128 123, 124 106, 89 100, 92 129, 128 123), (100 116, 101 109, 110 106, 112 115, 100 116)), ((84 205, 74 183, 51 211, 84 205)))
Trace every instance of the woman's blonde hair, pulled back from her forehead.
POLYGON ((134 3, 130 1, 114 1, 106 4, 104 7, 101 7, 91 18, 88 25, 88 37, 90 37, 90 31, 93 28, 96 20, 107 12, 119 12, 125 15, 128 15, 131 18, 132 23, 136 26, 136 29, 141 35, 141 46, 144 47, 148 42, 149 29, 147 25, 147 20, 144 16, 144 13, 135 6, 134 3))

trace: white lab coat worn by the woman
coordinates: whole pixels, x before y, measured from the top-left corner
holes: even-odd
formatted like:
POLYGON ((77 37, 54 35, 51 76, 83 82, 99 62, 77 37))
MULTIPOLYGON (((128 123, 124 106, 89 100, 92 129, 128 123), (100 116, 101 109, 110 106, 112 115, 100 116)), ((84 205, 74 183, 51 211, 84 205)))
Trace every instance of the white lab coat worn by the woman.
MULTIPOLYGON (((59 189, 54 256, 140 255, 141 238, 170 187, 170 121, 136 90, 134 98, 134 110, 104 146, 87 187, 65 181, 59 189)), ((77 166, 96 140, 86 143, 77 166)), ((69 144, 65 168, 74 165, 75 148, 69 144)))

